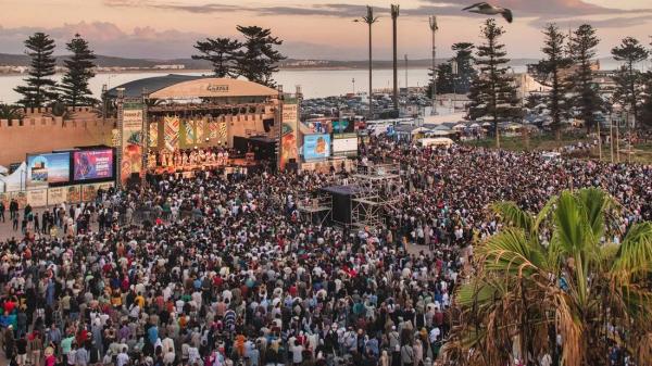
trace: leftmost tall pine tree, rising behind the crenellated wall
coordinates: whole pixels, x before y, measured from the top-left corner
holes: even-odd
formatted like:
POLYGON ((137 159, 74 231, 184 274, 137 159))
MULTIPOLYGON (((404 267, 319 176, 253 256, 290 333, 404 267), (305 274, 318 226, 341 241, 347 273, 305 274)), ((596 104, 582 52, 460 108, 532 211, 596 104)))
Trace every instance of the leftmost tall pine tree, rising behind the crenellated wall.
POLYGON ((54 40, 45 33, 37 31, 25 40, 25 47, 32 59, 27 73, 29 76, 25 79, 27 85, 14 90, 23 96, 18 104, 32 109, 41 108, 57 98, 53 90, 57 83, 50 78, 54 75, 54 40))

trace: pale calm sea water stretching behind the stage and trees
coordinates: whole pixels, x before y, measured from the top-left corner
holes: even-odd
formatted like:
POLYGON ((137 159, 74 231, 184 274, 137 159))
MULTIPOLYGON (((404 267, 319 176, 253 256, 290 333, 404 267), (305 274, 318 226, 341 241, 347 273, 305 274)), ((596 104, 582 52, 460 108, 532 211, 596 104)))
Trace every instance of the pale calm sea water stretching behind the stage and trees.
MULTIPOLYGON (((102 86, 113 88, 122 84, 154 76, 168 74, 179 75, 210 75, 206 72, 142 72, 142 73, 101 73, 96 75, 89 83, 93 96, 99 99, 102 86)), ((62 75, 53 78, 59 81, 62 75)), ((428 84, 427 68, 408 68, 399 71, 399 87, 423 87, 428 84), (408 81, 405 81, 405 79, 408 81)), ((26 75, 0 76, 0 103, 15 103, 20 96, 13 90, 23 85, 26 75)), ((297 86, 301 86, 304 98, 325 98, 331 96, 343 96, 351 92, 368 91, 368 70, 281 70, 274 75, 276 84, 281 85, 284 91, 294 92, 297 86)), ((392 86, 391 70, 375 70, 373 73, 373 88, 390 89, 392 86)))

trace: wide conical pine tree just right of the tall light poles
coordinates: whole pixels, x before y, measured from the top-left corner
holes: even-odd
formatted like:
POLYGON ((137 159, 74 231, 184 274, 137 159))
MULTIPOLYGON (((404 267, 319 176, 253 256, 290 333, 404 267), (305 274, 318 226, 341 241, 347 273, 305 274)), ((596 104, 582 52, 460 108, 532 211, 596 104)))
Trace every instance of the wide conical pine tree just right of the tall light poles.
POLYGON ((499 149, 499 123, 521 115, 513 78, 506 74, 505 65, 510 59, 505 58, 505 46, 499 42, 503 34, 503 28, 496 25, 492 18, 487 20, 481 27, 485 43, 478 47, 475 60, 480 74, 471 85, 471 106, 467 115, 469 119, 491 118, 496 146, 499 149))

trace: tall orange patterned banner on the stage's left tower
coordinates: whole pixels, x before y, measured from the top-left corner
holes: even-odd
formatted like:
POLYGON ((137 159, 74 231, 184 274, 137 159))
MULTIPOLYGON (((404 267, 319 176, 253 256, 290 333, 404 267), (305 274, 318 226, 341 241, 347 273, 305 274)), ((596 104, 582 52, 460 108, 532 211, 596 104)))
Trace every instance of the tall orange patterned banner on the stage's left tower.
POLYGON ((120 171, 123 185, 133 173, 142 173, 142 104, 124 104, 122 162, 120 171))

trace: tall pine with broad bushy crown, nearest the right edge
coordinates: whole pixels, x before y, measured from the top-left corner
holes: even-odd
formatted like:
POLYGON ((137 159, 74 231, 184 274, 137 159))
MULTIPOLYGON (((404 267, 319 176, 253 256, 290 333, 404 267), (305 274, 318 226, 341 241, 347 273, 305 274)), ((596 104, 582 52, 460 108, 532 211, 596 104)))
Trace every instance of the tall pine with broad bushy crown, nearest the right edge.
POLYGON ((616 81, 614 99, 622 105, 629 106, 638 118, 640 117, 639 104, 642 102, 644 80, 641 72, 634 65, 647 60, 649 52, 639 43, 638 39, 626 37, 618 47, 612 49, 612 54, 617 61, 624 62, 614 77, 614 81, 616 81))

